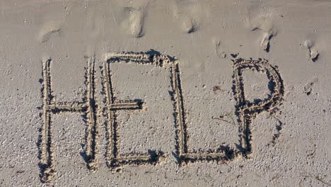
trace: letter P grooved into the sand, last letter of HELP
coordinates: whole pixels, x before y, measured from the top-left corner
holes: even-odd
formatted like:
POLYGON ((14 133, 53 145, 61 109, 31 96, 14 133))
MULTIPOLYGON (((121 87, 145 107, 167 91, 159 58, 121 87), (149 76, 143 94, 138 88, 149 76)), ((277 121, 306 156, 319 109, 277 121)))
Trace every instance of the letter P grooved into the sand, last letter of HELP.
MULTIPOLYGON (((244 156, 247 156, 252 152, 252 135, 250 132, 250 124, 257 114, 262 111, 267 111, 273 114, 277 111, 277 107, 281 105, 281 101, 284 96, 284 84, 279 70, 277 67, 273 67, 267 60, 233 60, 233 93, 237 102, 236 115, 238 115, 238 122, 241 124, 239 131, 240 135, 240 149, 244 156), (244 84, 243 84, 243 69, 255 69, 257 72, 264 72, 269 79, 269 89, 271 93, 268 98, 260 102, 250 102, 245 98, 244 84)), ((281 130, 281 125, 277 126, 277 130, 281 130)), ((273 137, 274 140, 279 135, 276 134, 273 137)))

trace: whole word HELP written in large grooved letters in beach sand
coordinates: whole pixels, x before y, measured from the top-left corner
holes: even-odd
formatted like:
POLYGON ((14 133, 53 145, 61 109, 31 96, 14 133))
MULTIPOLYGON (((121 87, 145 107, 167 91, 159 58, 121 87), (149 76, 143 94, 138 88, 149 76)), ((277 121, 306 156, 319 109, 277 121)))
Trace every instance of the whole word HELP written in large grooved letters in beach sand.
MULTIPOLYGON (((52 92, 52 77, 50 67, 52 60, 46 60, 42 67, 42 128, 40 132, 39 157, 40 157, 40 179, 42 182, 51 181, 56 175, 54 167, 54 149, 52 129, 53 116, 62 113, 80 113, 86 116, 86 135, 83 158, 88 169, 98 169, 98 159, 95 158, 98 150, 98 118, 102 115, 106 118, 105 128, 107 130, 107 153, 105 160, 111 169, 117 169, 126 164, 143 165, 161 162, 166 155, 162 151, 149 149, 146 154, 120 154, 120 127, 117 123, 117 113, 126 111, 128 113, 139 111, 144 113, 149 103, 141 98, 135 100, 118 100, 114 96, 111 66, 117 62, 128 62, 133 64, 149 64, 154 67, 168 67, 170 70, 170 102, 173 103, 173 116, 175 123, 175 150, 174 157, 178 164, 184 165, 188 162, 226 162, 236 157, 248 157, 252 153, 252 138, 250 125, 252 119, 262 111, 273 113, 281 104, 284 95, 284 85, 277 67, 273 67, 267 60, 233 60, 233 94, 236 99, 236 115, 239 125, 239 142, 237 149, 223 146, 215 151, 191 152, 188 148, 190 138, 187 132, 187 118, 185 113, 185 101, 182 96, 182 82, 180 79, 180 66, 178 60, 161 55, 156 51, 149 52, 122 52, 105 55, 105 61, 101 68, 103 82, 103 100, 105 107, 100 107, 97 101, 95 86, 95 58, 88 58, 86 69, 86 94, 83 101, 57 103, 52 92), (270 94, 260 102, 250 102, 245 98, 243 89, 243 70, 254 69, 264 72, 272 85, 270 94), (118 100, 118 101, 117 101, 118 100)), ((158 79, 158 77, 155 77, 158 79)), ((139 84, 139 81, 137 81, 139 84)))

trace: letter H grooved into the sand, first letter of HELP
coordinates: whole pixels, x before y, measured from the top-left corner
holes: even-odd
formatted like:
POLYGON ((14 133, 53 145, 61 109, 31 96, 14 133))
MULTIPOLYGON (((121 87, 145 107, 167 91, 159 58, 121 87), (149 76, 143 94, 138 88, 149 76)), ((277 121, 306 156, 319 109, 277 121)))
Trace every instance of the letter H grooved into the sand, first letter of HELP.
POLYGON ((56 171, 54 170, 54 151, 53 151, 53 115, 62 113, 82 113, 86 118, 86 145, 82 153, 88 169, 94 170, 96 139, 97 139, 97 103, 95 101, 95 70, 94 57, 88 58, 88 68, 86 69, 87 91, 82 102, 56 103, 52 95, 52 79, 50 67, 52 60, 43 62, 42 67, 42 128, 38 142, 40 158, 40 180, 42 182, 51 181, 56 171))

